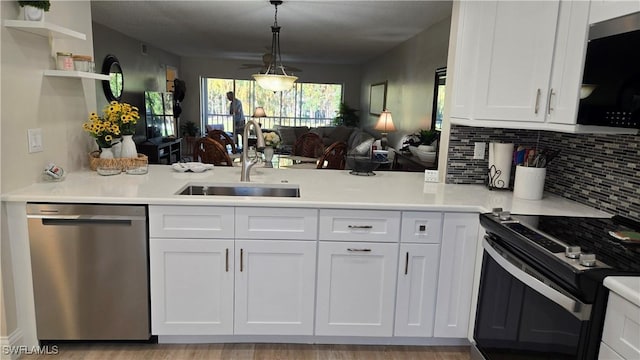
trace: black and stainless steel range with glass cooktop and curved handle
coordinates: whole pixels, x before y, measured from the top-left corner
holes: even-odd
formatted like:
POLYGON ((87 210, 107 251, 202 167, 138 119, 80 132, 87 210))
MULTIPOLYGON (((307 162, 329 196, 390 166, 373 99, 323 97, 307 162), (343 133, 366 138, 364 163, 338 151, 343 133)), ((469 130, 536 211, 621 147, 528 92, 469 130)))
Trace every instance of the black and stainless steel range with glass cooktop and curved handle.
POLYGON ((597 359, 606 276, 639 275, 640 247, 610 219, 481 214, 486 229, 474 329, 476 358, 597 359))

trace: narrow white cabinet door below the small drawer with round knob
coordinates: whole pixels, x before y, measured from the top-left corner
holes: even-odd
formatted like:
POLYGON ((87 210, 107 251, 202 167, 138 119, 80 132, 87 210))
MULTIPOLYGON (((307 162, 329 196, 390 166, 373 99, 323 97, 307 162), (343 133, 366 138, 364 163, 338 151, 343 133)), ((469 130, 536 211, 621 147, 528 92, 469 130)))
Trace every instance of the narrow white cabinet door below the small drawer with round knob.
POLYGON ((433 336, 439 244, 402 244, 394 336, 433 336))

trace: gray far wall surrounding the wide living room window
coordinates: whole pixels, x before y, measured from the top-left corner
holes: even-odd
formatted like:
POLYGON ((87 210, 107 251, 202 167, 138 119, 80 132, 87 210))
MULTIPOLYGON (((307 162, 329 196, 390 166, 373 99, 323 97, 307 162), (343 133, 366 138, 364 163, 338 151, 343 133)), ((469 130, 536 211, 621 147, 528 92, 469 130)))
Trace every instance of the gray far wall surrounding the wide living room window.
MULTIPOLYGON (((255 70, 241 69, 247 61, 222 60, 208 58, 182 57, 179 78, 187 85, 187 92, 182 106, 183 120, 198 122, 200 117, 199 84, 201 77, 251 80, 255 70)), ((302 70, 297 73, 298 82, 317 82, 343 84, 344 101, 357 108, 360 101, 361 67, 358 65, 320 65, 286 63, 302 70)), ((245 109, 245 113, 249 110, 245 109)))

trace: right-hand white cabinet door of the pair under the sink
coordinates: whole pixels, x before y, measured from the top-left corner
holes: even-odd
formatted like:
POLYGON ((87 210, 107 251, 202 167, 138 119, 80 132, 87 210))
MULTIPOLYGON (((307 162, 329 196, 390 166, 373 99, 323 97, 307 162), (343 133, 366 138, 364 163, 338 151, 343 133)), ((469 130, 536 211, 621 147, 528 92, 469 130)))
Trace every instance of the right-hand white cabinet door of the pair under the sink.
POLYGON ((313 335, 316 242, 236 240, 235 334, 313 335))

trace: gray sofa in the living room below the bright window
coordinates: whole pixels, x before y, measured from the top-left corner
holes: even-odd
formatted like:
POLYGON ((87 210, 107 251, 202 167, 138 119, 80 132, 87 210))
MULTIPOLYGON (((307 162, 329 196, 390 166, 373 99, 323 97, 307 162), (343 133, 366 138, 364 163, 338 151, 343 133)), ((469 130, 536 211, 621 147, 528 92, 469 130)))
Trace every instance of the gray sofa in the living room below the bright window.
POLYGON ((346 142, 348 153, 353 155, 370 155, 373 142, 380 138, 378 134, 370 133, 360 128, 342 125, 317 128, 277 125, 274 130, 278 132, 282 140, 280 151, 283 153, 291 152, 296 139, 307 132, 320 136, 325 148, 337 141, 346 142))

